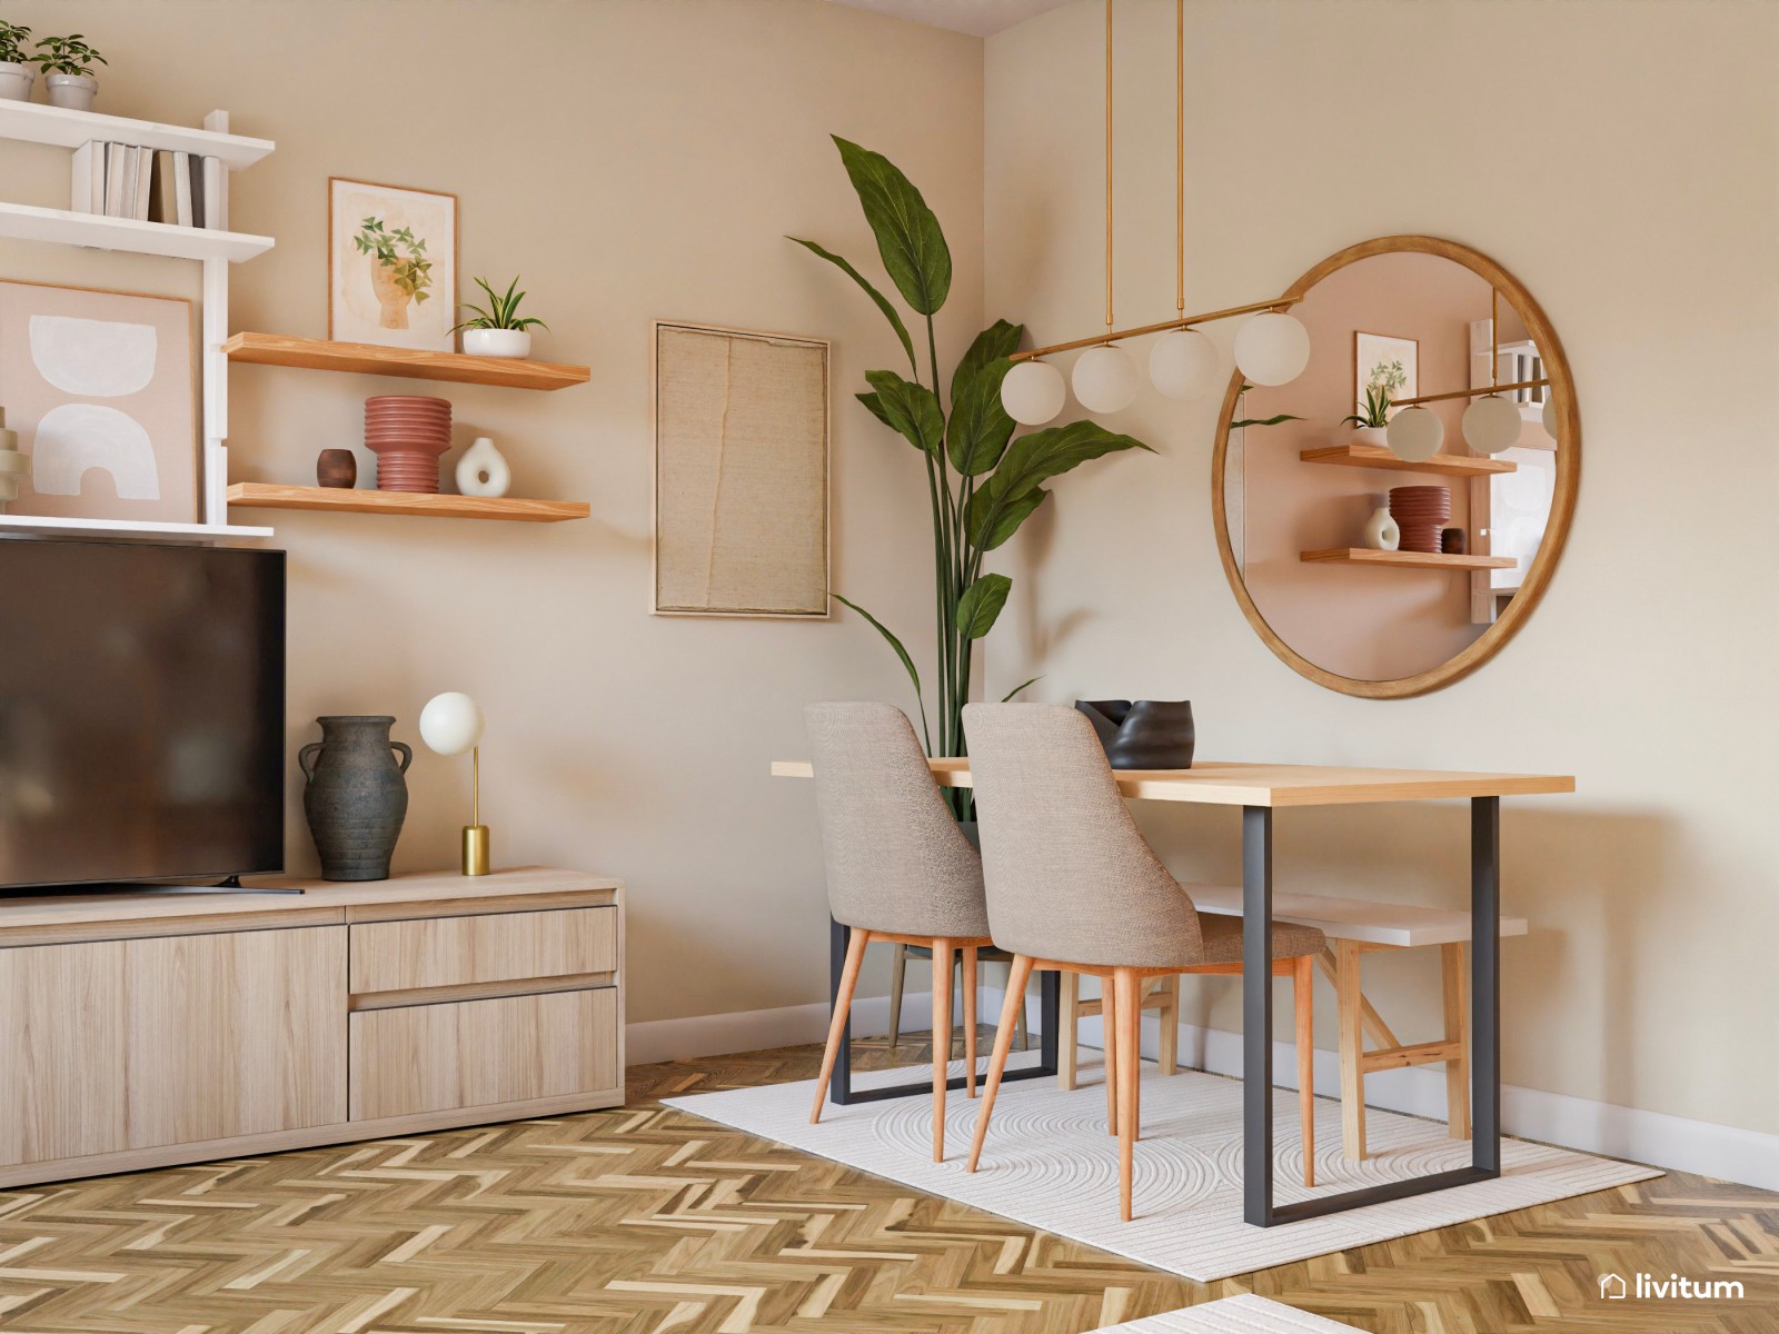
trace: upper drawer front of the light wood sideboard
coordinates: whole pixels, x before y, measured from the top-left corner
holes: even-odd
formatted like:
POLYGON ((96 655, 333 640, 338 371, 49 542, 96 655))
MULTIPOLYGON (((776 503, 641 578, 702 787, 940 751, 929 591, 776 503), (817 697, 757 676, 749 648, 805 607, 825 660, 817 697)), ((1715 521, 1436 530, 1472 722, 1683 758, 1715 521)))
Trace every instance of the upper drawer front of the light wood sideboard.
POLYGON ((610 973, 617 909, 368 921, 352 932, 352 994, 610 973))

